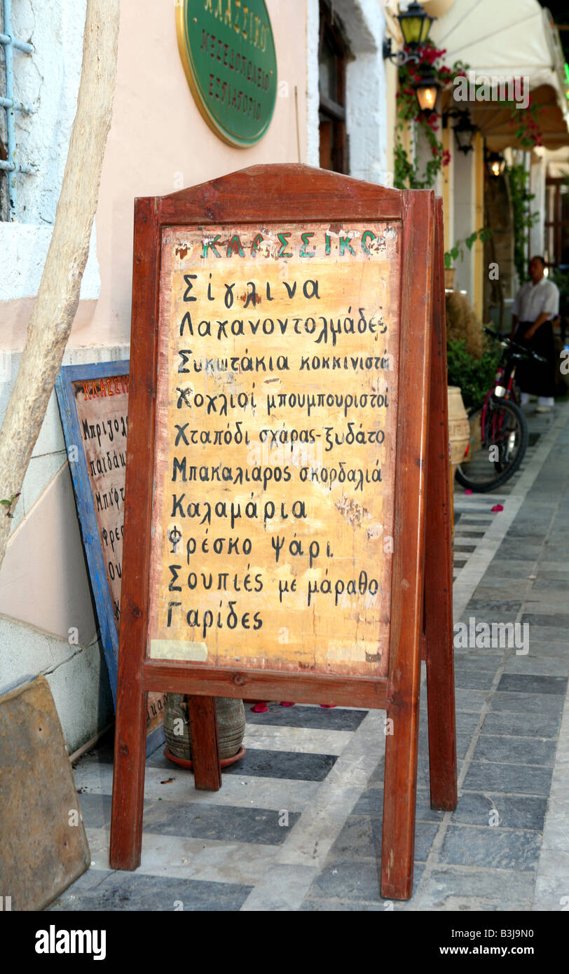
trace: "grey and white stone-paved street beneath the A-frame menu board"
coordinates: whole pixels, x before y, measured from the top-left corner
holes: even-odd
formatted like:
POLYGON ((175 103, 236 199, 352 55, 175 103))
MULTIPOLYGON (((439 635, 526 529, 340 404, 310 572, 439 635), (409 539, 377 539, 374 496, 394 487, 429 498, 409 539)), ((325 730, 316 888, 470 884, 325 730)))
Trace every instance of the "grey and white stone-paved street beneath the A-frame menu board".
POLYGON ((528 422, 532 445, 509 484, 455 493, 455 624, 519 623, 519 638, 455 650, 454 812, 429 804, 423 693, 412 899, 379 895, 384 713, 270 703, 264 714, 247 707, 247 755, 215 794, 196 792, 161 751, 147 759, 134 873, 108 869, 110 746, 81 759, 94 862, 49 910, 559 911, 569 902, 569 404, 528 422))

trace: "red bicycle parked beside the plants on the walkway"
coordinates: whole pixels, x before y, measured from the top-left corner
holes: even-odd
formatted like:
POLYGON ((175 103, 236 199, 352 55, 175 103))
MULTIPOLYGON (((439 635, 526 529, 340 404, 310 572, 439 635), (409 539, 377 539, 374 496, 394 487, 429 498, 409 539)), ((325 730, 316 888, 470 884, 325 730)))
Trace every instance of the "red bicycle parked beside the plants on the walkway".
POLYGON ((527 421, 520 409, 514 381, 517 362, 524 358, 546 361, 506 334, 492 328, 484 328, 484 331, 501 343, 504 352, 492 389, 488 390, 481 405, 469 410, 470 441, 455 474, 459 484, 479 494, 501 487, 510 480, 527 450, 527 421))

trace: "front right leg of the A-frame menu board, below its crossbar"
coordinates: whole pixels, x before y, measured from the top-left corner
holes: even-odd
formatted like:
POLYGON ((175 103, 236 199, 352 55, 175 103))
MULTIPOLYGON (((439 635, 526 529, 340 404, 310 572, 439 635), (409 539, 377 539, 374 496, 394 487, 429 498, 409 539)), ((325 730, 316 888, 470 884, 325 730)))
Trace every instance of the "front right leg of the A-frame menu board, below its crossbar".
POLYGON ((413 892, 418 689, 417 686, 416 705, 414 701, 399 706, 388 703, 387 708, 381 853, 381 895, 384 899, 408 900, 413 892))

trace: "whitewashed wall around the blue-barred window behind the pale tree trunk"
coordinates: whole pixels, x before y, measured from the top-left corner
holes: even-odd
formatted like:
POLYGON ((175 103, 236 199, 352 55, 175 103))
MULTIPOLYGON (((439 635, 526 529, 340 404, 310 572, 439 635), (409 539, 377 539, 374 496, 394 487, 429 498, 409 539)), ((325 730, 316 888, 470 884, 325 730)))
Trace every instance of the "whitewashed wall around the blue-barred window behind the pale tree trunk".
MULTIPOLYGON (((85 9, 86 0, 13 2, 14 34, 34 46, 32 55, 14 51, 15 96, 35 109, 16 112, 17 159, 36 171, 18 175, 18 222, 0 222, 2 349, 23 347, 25 330, 16 334, 14 328, 16 306, 6 303, 35 297, 52 239, 77 105, 85 9)), ((99 292, 94 228, 81 298, 95 300, 99 292)))

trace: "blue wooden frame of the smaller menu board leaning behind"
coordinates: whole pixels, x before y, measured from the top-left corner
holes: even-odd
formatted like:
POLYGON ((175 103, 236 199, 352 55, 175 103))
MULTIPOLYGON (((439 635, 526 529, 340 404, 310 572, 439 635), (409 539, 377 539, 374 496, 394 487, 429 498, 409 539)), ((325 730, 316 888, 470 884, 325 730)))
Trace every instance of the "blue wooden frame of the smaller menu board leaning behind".
MULTIPOLYGON (((56 394, 63 439, 67 450, 73 493, 81 537, 87 558, 87 567, 95 599, 95 613, 100 630, 100 641, 107 665, 109 683, 116 709, 119 659, 119 634, 113 610, 113 597, 107 579, 104 554, 96 520, 92 482, 87 468, 87 457, 82 446, 84 437, 77 413, 73 391, 74 383, 93 383, 99 379, 115 379, 129 375, 128 358, 118 361, 91 362, 86 365, 63 365, 57 375, 56 394), (74 457, 77 451, 77 459, 74 457)), ((112 392, 112 390, 111 390, 112 392)), ((164 727, 160 725, 146 736, 146 753, 152 754, 164 741, 164 727)))

